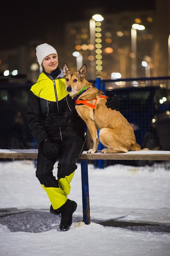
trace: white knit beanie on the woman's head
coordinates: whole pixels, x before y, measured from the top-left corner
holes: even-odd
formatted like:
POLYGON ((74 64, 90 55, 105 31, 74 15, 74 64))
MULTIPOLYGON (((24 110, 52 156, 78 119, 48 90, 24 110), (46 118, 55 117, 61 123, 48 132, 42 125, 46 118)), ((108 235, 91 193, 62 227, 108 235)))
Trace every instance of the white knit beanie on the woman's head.
MULTIPOLYGON (((36 47, 36 56, 40 66, 42 65, 42 61, 44 60, 44 58, 50 54, 57 54, 57 51, 56 49, 54 49, 53 46, 48 45, 47 43, 44 43, 36 47)), ((58 57, 58 54, 57 54, 57 57, 58 57)))

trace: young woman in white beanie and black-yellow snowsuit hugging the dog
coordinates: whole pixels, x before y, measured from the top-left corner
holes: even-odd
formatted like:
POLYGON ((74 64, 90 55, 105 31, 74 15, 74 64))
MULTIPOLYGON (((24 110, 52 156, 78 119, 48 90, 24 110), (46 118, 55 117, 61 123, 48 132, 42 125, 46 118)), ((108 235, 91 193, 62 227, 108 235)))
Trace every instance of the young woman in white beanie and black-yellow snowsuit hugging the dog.
MULTIPOLYGON (((38 45, 36 56, 42 73, 30 89, 26 112, 30 131, 39 144, 36 177, 49 197, 50 212, 61 215, 60 230, 67 231, 77 207, 67 195, 84 148, 84 121, 66 92, 55 48, 47 43, 38 45), (54 177, 53 166, 57 160, 57 177, 54 177)), ((117 97, 110 97, 106 104, 117 108, 117 97)))

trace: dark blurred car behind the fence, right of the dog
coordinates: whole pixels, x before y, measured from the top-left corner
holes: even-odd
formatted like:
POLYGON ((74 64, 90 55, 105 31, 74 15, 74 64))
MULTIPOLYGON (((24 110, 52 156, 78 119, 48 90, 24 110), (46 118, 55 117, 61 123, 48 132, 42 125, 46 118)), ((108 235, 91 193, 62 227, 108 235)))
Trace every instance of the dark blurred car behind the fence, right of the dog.
POLYGON ((170 150, 170 89, 157 86, 116 88, 119 111, 131 124, 137 143, 170 150))

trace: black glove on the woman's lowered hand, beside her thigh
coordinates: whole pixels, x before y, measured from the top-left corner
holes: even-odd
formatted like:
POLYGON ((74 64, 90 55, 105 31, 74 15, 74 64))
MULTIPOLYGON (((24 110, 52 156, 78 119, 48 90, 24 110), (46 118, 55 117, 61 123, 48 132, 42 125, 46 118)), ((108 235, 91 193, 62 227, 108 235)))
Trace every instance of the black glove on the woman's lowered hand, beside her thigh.
POLYGON ((57 147, 49 139, 42 142, 42 152, 46 158, 52 161, 56 161, 58 157, 57 147))

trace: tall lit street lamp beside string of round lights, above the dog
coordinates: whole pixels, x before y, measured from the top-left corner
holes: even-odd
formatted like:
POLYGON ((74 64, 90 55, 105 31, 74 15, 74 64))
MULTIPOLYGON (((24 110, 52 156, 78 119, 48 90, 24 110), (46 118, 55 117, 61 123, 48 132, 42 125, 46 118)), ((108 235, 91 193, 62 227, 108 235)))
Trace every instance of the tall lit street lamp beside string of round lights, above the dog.
POLYGON ((101 34, 101 23, 100 21, 104 20, 103 16, 100 14, 95 14, 92 16, 92 19, 90 20, 90 43, 91 45, 95 46, 93 49, 91 49, 91 55, 96 58, 96 61, 91 61, 91 79, 95 78, 95 69, 96 66, 96 74, 99 74, 102 72, 102 39, 100 38, 102 36, 101 34))

